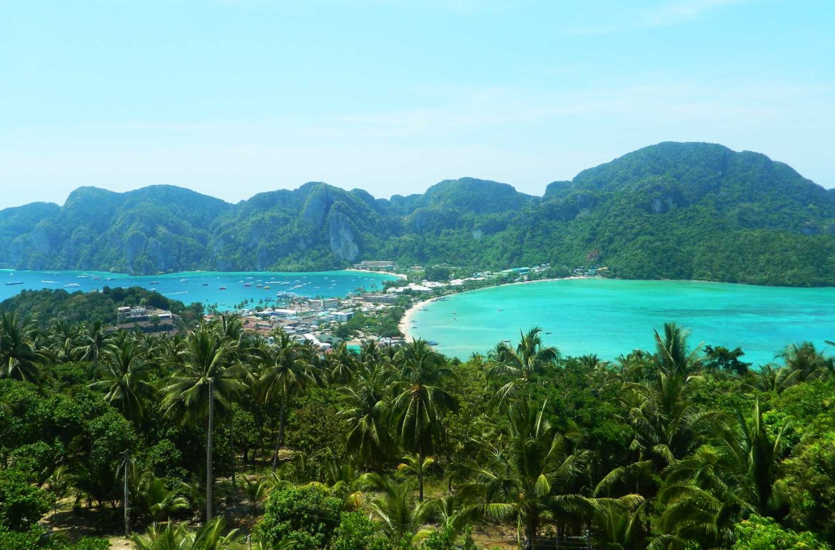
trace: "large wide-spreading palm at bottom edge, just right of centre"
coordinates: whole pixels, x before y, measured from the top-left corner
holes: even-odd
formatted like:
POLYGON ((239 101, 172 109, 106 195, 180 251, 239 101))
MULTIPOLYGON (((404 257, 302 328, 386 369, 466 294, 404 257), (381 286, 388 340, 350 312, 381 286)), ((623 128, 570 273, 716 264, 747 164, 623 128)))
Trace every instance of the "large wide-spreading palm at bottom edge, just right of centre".
POLYGON ((526 399, 508 407, 509 439, 480 462, 467 462, 463 491, 478 495, 470 507, 475 516, 514 518, 517 537, 535 548, 543 516, 556 507, 570 512, 590 507, 574 491, 589 461, 589 452, 575 452, 576 433, 562 434, 544 418, 544 405, 532 410, 526 399))

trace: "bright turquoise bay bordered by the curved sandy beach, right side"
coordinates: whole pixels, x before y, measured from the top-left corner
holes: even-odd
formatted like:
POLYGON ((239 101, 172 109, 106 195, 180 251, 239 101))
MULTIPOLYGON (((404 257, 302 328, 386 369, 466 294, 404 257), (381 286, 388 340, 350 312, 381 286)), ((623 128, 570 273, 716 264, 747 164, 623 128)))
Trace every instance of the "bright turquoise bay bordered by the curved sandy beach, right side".
POLYGON ((691 345, 741 346, 762 365, 794 342, 835 340, 835 288, 797 289, 693 281, 580 279, 504 285, 434 301, 412 317, 410 334, 468 357, 519 331, 542 327, 546 344, 564 355, 614 359, 653 349, 652 330, 675 320, 691 345))

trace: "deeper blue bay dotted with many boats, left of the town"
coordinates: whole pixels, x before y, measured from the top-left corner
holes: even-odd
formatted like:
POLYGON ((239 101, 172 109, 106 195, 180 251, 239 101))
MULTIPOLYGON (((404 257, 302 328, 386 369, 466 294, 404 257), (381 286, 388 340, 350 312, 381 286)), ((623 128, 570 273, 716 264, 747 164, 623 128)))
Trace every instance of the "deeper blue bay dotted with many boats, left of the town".
MULTIPOLYGON (((357 271, 319 271, 278 273, 230 273, 196 271, 169 275, 120 275, 100 271, 13 271, 0 270, 0 300, 18 294, 23 289, 62 289, 68 292, 101 290, 105 285, 142 286, 156 290, 161 295, 186 304, 202 302, 218 305, 220 310, 230 310, 244 300, 276 299, 278 292, 323 298, 344 297, 352 290, 382 289, 384 280, 395 279, 391 275, 359 273, 357 271), (112 280, 107 280, 112 278, 112 280), (21 282, 21 285, 7 285, 21 282), (155 284, 154 284, 155 283, 155 284), (284 283, 284 284, 282 284, 284 283), (249 286, 246 286, 249 284, 249 286), (73 285, 66 287, 66 285, 73 285), (74 286, 78 285, 78 286, 74 286), (258 288, 261 285, 261 288, 258 288), (226 290, 220 290, 224 286, 226 290), (265 286, 270 289, 266 290, 265 286)), ((270 302, 273 304, 274 302, 270 302)))

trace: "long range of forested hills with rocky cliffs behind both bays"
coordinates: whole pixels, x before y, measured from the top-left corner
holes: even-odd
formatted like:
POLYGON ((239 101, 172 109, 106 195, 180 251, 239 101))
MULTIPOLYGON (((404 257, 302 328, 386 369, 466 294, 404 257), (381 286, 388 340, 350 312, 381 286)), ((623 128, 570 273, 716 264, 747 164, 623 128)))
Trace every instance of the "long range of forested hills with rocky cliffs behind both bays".
POLYGON ((0 266, 14 269, 311 270, 363 259, 835 285, 835 191, 762 154, 663 143, 549 184, 543 197, 470 178, 391 199, 308 183, 239 204, 152 186, 81 188, 63 207, 0 211, 0 266))

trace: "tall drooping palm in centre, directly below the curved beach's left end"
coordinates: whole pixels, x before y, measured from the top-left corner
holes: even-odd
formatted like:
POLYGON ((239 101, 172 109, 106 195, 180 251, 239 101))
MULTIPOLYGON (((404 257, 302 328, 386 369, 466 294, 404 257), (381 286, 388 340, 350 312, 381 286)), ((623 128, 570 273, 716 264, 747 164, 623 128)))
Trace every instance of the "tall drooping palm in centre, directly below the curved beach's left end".
POLYGON ((443 436, 443 412, 458 408, 453 396, 438 386, 452 371, 424 340, 402 346, 395 362, 399 368, 392 385, 392 420, 402 447, 417 453, 417 491, 423 502, 423 458, 435 452, 443 436))

